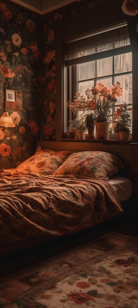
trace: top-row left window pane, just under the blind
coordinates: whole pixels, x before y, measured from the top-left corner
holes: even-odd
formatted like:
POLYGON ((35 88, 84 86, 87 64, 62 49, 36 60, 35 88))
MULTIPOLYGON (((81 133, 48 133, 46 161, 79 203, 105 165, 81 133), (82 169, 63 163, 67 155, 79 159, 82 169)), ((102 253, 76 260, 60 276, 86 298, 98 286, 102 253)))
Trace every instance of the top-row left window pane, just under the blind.
POLYGON ((94 61, 78 65, 78 81, 95 77, 94 61))

